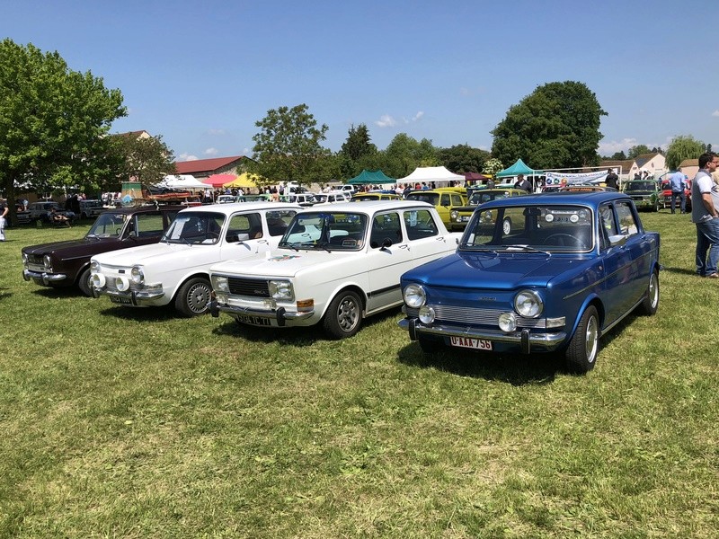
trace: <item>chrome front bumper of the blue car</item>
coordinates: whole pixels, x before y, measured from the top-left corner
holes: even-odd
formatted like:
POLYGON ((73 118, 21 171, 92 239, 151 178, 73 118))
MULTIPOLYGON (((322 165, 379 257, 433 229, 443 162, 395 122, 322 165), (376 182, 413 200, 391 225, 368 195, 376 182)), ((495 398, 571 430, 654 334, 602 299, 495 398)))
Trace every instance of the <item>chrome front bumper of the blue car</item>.
POLYGON ((567 338, 566 331, 552 333, 537 333, 527 329, 505 333, 498 330, 473 330, 471 328, 458 329, 446 326, 426 326, 416 318, 403 318, 397 325, 409 331, 410 339, 417 340, 420 333, 437 335, 439 337, 467 337, 470 339, 493 340, 519 347, 523 354, 529 354, 533 348, 550 351, 559 348, 567 338))

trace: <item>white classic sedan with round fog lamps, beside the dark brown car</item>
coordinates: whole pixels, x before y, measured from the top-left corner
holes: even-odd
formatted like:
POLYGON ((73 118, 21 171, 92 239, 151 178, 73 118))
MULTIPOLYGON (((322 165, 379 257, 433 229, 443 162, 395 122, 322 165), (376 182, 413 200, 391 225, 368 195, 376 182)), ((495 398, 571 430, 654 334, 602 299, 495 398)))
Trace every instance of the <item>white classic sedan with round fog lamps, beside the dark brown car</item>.
POLYGON ((211 292, 209 267, 275 249, 299 209, 279 202, 183 209, 160 243, 93 256, 93 296, 129 306, 174 302, 185 316, 203 314, 211 292))

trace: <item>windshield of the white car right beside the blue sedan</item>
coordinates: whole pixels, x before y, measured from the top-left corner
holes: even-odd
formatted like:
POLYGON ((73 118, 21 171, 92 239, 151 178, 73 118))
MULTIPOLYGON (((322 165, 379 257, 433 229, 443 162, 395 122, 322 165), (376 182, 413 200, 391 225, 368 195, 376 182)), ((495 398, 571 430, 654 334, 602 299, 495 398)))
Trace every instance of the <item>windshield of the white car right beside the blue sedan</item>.
POLYGON ((282 237, 280 247, 356 251, 365 244, 367 216, 312 212, 297 214, 282 237))

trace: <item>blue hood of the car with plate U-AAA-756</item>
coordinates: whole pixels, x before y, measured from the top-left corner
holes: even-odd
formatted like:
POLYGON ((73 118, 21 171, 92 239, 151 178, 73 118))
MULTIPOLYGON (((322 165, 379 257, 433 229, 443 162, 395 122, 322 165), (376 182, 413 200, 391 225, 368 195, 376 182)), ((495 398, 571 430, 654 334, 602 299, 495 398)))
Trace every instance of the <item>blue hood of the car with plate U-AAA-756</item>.
POLYGON ((453 253, 407 271, 402 280, 452 288, 547 287, 570 272, 581 273, 591 260, 525 252, 453 253))

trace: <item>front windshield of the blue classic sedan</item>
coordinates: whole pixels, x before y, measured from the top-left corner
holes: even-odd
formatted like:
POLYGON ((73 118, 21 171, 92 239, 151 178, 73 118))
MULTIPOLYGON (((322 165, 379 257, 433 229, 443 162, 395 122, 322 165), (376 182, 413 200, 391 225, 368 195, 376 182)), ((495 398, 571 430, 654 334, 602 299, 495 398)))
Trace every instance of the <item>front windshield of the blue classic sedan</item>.
POLYGON ((586 252, 593 244, 590 208, 538 205, 478 209, 459 248, 494 252, 586 252))

